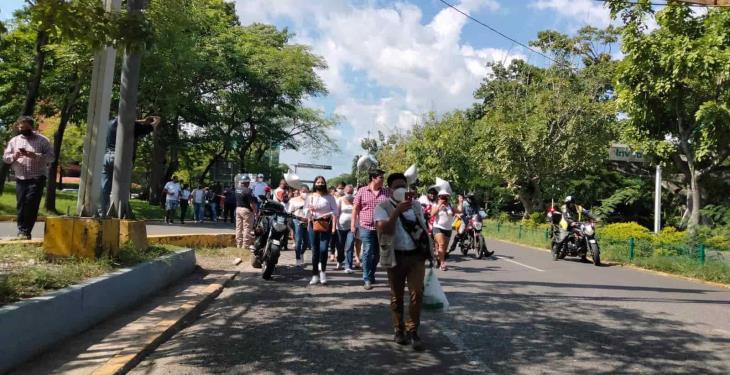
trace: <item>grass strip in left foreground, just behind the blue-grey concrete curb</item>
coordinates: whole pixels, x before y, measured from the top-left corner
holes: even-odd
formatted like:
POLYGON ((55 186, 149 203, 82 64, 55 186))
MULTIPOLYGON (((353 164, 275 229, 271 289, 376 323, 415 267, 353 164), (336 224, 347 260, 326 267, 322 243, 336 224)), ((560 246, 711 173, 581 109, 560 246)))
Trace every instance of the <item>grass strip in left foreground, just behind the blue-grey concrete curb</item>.
POLYGON ((0 305, 39 296, 101 276, 115 268, 129 267, 170 254, 174 246, 151 246, 147 250, 122 248, 116 258, 97 260, 46 257, 41 247, 0 246, 0 305))

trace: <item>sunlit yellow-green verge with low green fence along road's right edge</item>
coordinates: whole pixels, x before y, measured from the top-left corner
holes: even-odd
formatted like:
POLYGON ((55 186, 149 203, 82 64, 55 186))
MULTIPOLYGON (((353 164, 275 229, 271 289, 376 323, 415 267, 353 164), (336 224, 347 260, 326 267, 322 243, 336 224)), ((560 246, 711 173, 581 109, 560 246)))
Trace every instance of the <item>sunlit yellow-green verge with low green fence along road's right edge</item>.
MULTIPOLYGON (((550 239, 544 227, 529 227, 515 223, 487 221, 484 236, 524 245, 549 249, 550 239), (521 229, 520 229, 521 227, 521 229)), ((634 257, 629 257, 629 243, 625 240, 600 238, 601 259, 621 264, 692 277, 700 280, 730 284, 730 263, 720 257, 708 256, 700 262, 697 247, 685 243, 656 246, 650 241, 635 241, 634 257)))

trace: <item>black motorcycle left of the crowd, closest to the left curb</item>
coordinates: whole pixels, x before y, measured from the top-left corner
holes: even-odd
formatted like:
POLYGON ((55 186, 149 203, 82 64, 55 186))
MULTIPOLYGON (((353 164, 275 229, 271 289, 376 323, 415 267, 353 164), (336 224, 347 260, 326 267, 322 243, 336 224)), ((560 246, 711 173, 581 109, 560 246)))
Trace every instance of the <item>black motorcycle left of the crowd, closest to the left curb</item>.
POLYGON ((266 200, 261 204, 254 224, 256 241, 251 265, 261 268, 261 277, 265 280, 271 279, 279 255, 286 249, 289 240, 288 218, 289 214, 281 203, 266 200))

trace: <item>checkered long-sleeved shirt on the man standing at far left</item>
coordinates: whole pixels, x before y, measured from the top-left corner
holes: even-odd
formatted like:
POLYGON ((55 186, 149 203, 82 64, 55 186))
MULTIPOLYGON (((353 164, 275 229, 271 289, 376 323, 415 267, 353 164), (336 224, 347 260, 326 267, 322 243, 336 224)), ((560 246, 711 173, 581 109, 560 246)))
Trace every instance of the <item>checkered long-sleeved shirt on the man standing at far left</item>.
POLYGON ((48 163, 53 160, 53 149, 48 138, 38 132, 26 137, 17 135, 10 139, 8 147, 5 148, 3 161, 10 164, 18 180, 32 180, 48 174, 48 163), (21 148, 28 152, 38 154, 35 158, 21 156, 15 159, 15 153, 21 148))

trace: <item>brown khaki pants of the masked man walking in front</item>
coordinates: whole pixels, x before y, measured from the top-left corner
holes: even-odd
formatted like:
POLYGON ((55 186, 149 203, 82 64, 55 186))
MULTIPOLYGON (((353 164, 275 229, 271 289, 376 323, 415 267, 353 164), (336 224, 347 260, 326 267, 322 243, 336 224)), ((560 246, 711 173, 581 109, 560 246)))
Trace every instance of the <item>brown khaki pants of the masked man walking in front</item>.
POLYGON ((393 313, 393 328, 396 331, 414 332, 421 323, 421 304, 423 303, 423 278, 426 264, 423 255, 395 253, 396 266, 388 268, 390 284, 390 310, 393 313), (408 320, 403 324, 403 294, 408 284, 410 306, 408 320))

